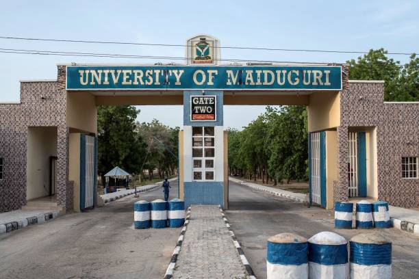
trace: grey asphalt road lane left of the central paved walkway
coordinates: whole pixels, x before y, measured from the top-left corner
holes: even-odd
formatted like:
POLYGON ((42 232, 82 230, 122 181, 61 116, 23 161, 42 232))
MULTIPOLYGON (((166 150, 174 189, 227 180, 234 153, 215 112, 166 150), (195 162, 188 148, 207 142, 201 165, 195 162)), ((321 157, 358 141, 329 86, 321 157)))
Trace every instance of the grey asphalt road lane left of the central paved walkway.
POLYGON ((181 228, 133 228, 133 203, 156 198, 160 187, 2 235, 0 278, 163 278, 181 228))

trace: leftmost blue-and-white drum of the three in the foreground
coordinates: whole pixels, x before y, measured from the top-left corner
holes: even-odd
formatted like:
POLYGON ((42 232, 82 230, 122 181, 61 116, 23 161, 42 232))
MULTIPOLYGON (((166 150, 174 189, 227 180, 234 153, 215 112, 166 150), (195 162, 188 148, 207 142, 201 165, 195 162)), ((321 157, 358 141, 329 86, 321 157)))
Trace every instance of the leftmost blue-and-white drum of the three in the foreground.
POLYGON ((307 239, 280 233, 268 239, 266 273, 268 279, 308 278, 307 239))

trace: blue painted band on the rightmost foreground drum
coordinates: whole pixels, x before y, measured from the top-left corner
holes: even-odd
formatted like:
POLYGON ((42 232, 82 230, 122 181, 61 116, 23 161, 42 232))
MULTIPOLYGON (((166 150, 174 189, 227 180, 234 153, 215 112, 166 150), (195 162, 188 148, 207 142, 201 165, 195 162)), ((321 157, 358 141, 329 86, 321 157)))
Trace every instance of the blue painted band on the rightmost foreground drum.
POLYGON ((366 244, 349 241, 351 263, 358 265, 391 265, 392 244, 366 244))

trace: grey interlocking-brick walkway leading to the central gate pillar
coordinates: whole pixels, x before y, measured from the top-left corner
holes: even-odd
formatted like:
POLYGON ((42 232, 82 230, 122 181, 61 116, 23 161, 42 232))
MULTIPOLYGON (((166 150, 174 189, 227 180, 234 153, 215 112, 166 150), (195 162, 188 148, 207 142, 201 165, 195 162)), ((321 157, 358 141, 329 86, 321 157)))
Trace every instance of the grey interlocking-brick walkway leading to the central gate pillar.
POLYGON ((249 278, 216 205, 192 205, 173 278, 249 278))

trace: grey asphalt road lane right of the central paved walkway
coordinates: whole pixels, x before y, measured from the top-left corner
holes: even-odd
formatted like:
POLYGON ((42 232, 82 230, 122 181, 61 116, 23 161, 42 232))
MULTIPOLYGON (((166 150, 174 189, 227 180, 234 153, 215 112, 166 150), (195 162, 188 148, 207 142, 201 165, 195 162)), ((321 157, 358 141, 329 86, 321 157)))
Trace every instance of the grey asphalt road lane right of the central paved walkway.
MULTIPOLYGON (((226 215, 257 278, 266 278, 266 241, 278 233, 296 233, 307 239, 328 230, 346 239, 363 230, 335 230, 333 211, 307 208, 301 203, 271 196, 229 182, 226 215)), ((368 230, 382 233, 393 243, 393 278, 419 278, 419 239, 396 228, 368 230)))

